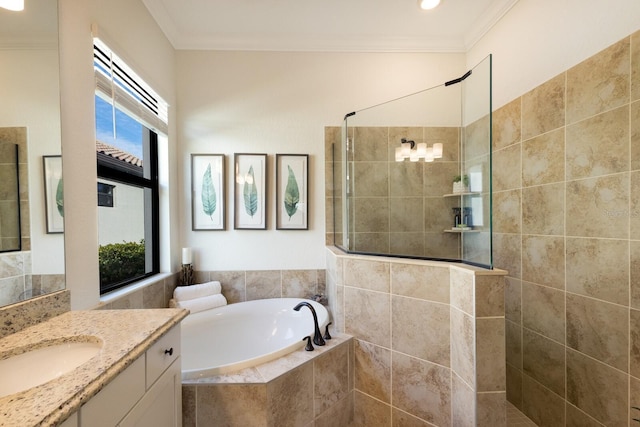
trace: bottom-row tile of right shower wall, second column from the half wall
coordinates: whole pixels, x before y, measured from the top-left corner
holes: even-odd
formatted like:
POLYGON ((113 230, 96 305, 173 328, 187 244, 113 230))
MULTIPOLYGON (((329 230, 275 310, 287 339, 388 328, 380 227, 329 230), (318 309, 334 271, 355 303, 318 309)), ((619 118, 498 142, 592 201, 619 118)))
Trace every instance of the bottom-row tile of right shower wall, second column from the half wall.
POLYGON ((565 425, 564 399, 528 375, 522 377, 522 406, 524 413, 539 426, 565 425))

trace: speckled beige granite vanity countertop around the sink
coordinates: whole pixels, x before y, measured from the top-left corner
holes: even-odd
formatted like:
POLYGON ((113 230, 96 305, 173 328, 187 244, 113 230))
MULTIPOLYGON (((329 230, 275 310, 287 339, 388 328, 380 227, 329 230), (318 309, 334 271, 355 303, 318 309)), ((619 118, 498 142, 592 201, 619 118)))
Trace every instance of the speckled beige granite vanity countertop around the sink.
MULTIPOLYGON (((44 341, 101 340, 100 352, 45 384, 0 398, 0 426, 57 425, 188 314, 184 309, 69 311, 0 339, 0 359, 44 341), (95 337, 95 338, 93 338, 95 337)), ((0 379, 1 381, 2 379, 0 379)))

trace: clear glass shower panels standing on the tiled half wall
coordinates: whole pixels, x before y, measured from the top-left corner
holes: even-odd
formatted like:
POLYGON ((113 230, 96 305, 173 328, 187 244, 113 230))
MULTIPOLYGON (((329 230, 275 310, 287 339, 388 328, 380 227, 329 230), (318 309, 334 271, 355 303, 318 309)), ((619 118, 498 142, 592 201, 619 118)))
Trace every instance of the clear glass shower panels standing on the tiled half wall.
POLYGON ((491 56, 347 114, 333 177, 336 246, 492 268, 491 56))

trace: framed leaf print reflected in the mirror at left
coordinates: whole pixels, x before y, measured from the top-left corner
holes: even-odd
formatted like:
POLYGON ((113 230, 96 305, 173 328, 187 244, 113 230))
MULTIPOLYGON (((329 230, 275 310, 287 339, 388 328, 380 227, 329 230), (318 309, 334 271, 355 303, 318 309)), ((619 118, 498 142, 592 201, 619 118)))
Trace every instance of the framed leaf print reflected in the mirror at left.
POLYGON ((42 156, 47 234, 64 233, 62 156, 42 156))

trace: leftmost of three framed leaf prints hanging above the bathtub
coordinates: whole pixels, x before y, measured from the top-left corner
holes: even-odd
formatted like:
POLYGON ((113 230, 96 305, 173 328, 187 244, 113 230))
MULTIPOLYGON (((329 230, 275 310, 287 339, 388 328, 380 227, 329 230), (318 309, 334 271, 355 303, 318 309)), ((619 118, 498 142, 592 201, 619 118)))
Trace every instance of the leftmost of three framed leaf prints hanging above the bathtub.
POLYGON ((225 229, 224 154, 191 155, 191 229, 225 229))

